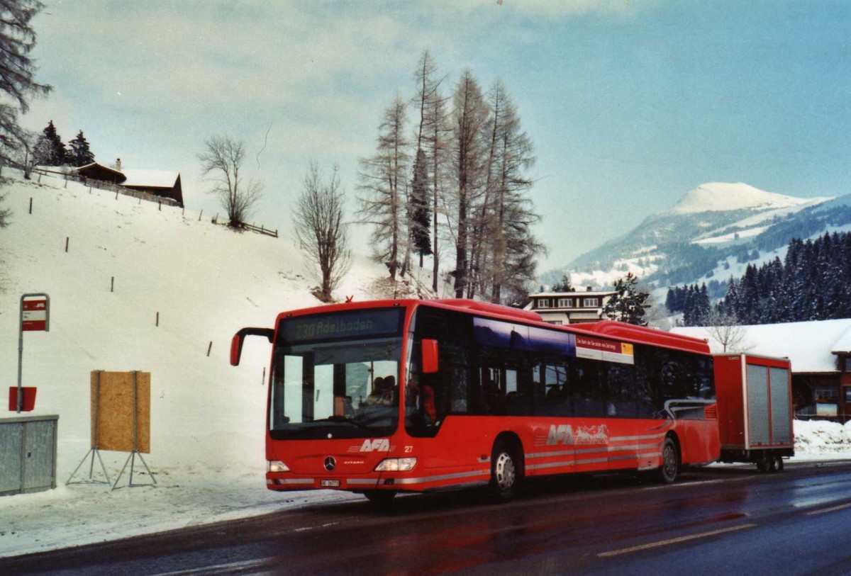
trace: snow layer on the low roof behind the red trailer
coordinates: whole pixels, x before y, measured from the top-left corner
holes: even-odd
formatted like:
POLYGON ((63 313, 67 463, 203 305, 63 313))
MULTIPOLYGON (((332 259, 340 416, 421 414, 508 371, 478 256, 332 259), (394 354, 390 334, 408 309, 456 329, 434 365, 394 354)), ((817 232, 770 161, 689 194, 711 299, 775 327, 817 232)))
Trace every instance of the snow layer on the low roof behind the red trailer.
MULTIPOLYGON (((851 352, 851 319, 741 326, 741 329, 745 336, 740 349, 791 359, 793 372, 836 372, 834 354, 851 352)), ((705 327, 674 328, 671 332, 708 339, 713 353, 723 351, 705 327)))

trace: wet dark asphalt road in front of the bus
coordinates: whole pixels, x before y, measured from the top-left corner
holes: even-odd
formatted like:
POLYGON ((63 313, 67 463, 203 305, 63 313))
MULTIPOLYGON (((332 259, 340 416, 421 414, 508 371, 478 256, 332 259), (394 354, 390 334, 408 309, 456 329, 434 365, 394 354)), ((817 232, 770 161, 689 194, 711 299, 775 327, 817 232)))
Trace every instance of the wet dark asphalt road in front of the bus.
POLYGON ((851 574, 851 463, 527 483, 317 505, 102 545, 0 558, 0 574, 851 574))

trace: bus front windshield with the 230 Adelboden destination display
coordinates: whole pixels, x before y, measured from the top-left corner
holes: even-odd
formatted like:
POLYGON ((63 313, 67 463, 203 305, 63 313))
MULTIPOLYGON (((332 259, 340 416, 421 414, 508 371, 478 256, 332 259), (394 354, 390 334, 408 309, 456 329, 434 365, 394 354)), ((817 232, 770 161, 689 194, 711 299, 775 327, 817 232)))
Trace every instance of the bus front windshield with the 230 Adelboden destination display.
POLYGON ((283 319, 272 358, 271 438, 395 432, 402 321, 402 308, 283 319))

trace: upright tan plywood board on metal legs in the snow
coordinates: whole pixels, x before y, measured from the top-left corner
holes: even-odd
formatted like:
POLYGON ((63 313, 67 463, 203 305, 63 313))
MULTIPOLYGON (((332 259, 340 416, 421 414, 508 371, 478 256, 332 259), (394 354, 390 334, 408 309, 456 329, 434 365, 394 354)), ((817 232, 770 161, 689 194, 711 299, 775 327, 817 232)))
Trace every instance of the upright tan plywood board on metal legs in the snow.
POLYGON ((151 453, 151 373, 136 372, 134 420, 133 372, 92 372, 92 447, 151 453), (100 385, 98 376, 100 375, 100 385))

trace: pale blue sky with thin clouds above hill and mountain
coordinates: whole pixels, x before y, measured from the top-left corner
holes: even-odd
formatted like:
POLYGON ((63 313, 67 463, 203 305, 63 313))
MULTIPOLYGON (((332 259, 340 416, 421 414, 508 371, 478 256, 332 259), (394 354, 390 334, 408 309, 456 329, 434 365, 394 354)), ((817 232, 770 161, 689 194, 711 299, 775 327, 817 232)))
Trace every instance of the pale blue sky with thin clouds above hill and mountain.
POLYGON ((197 153, 213 134, 242 138, 271 228, 290 227, 311 160, 339 164, 353 199, 357 158, 395 95, 414 95, 426 48, 448 92, 469 67, 515 100, 537 155, 540 270, 706 182, 851 192, 844 0, 93 0, 49 2, 34 25, 54 93, 28 127, 52 119, 66 140, 82 129, 98 161, 179 170, 205 212, 197 153))

